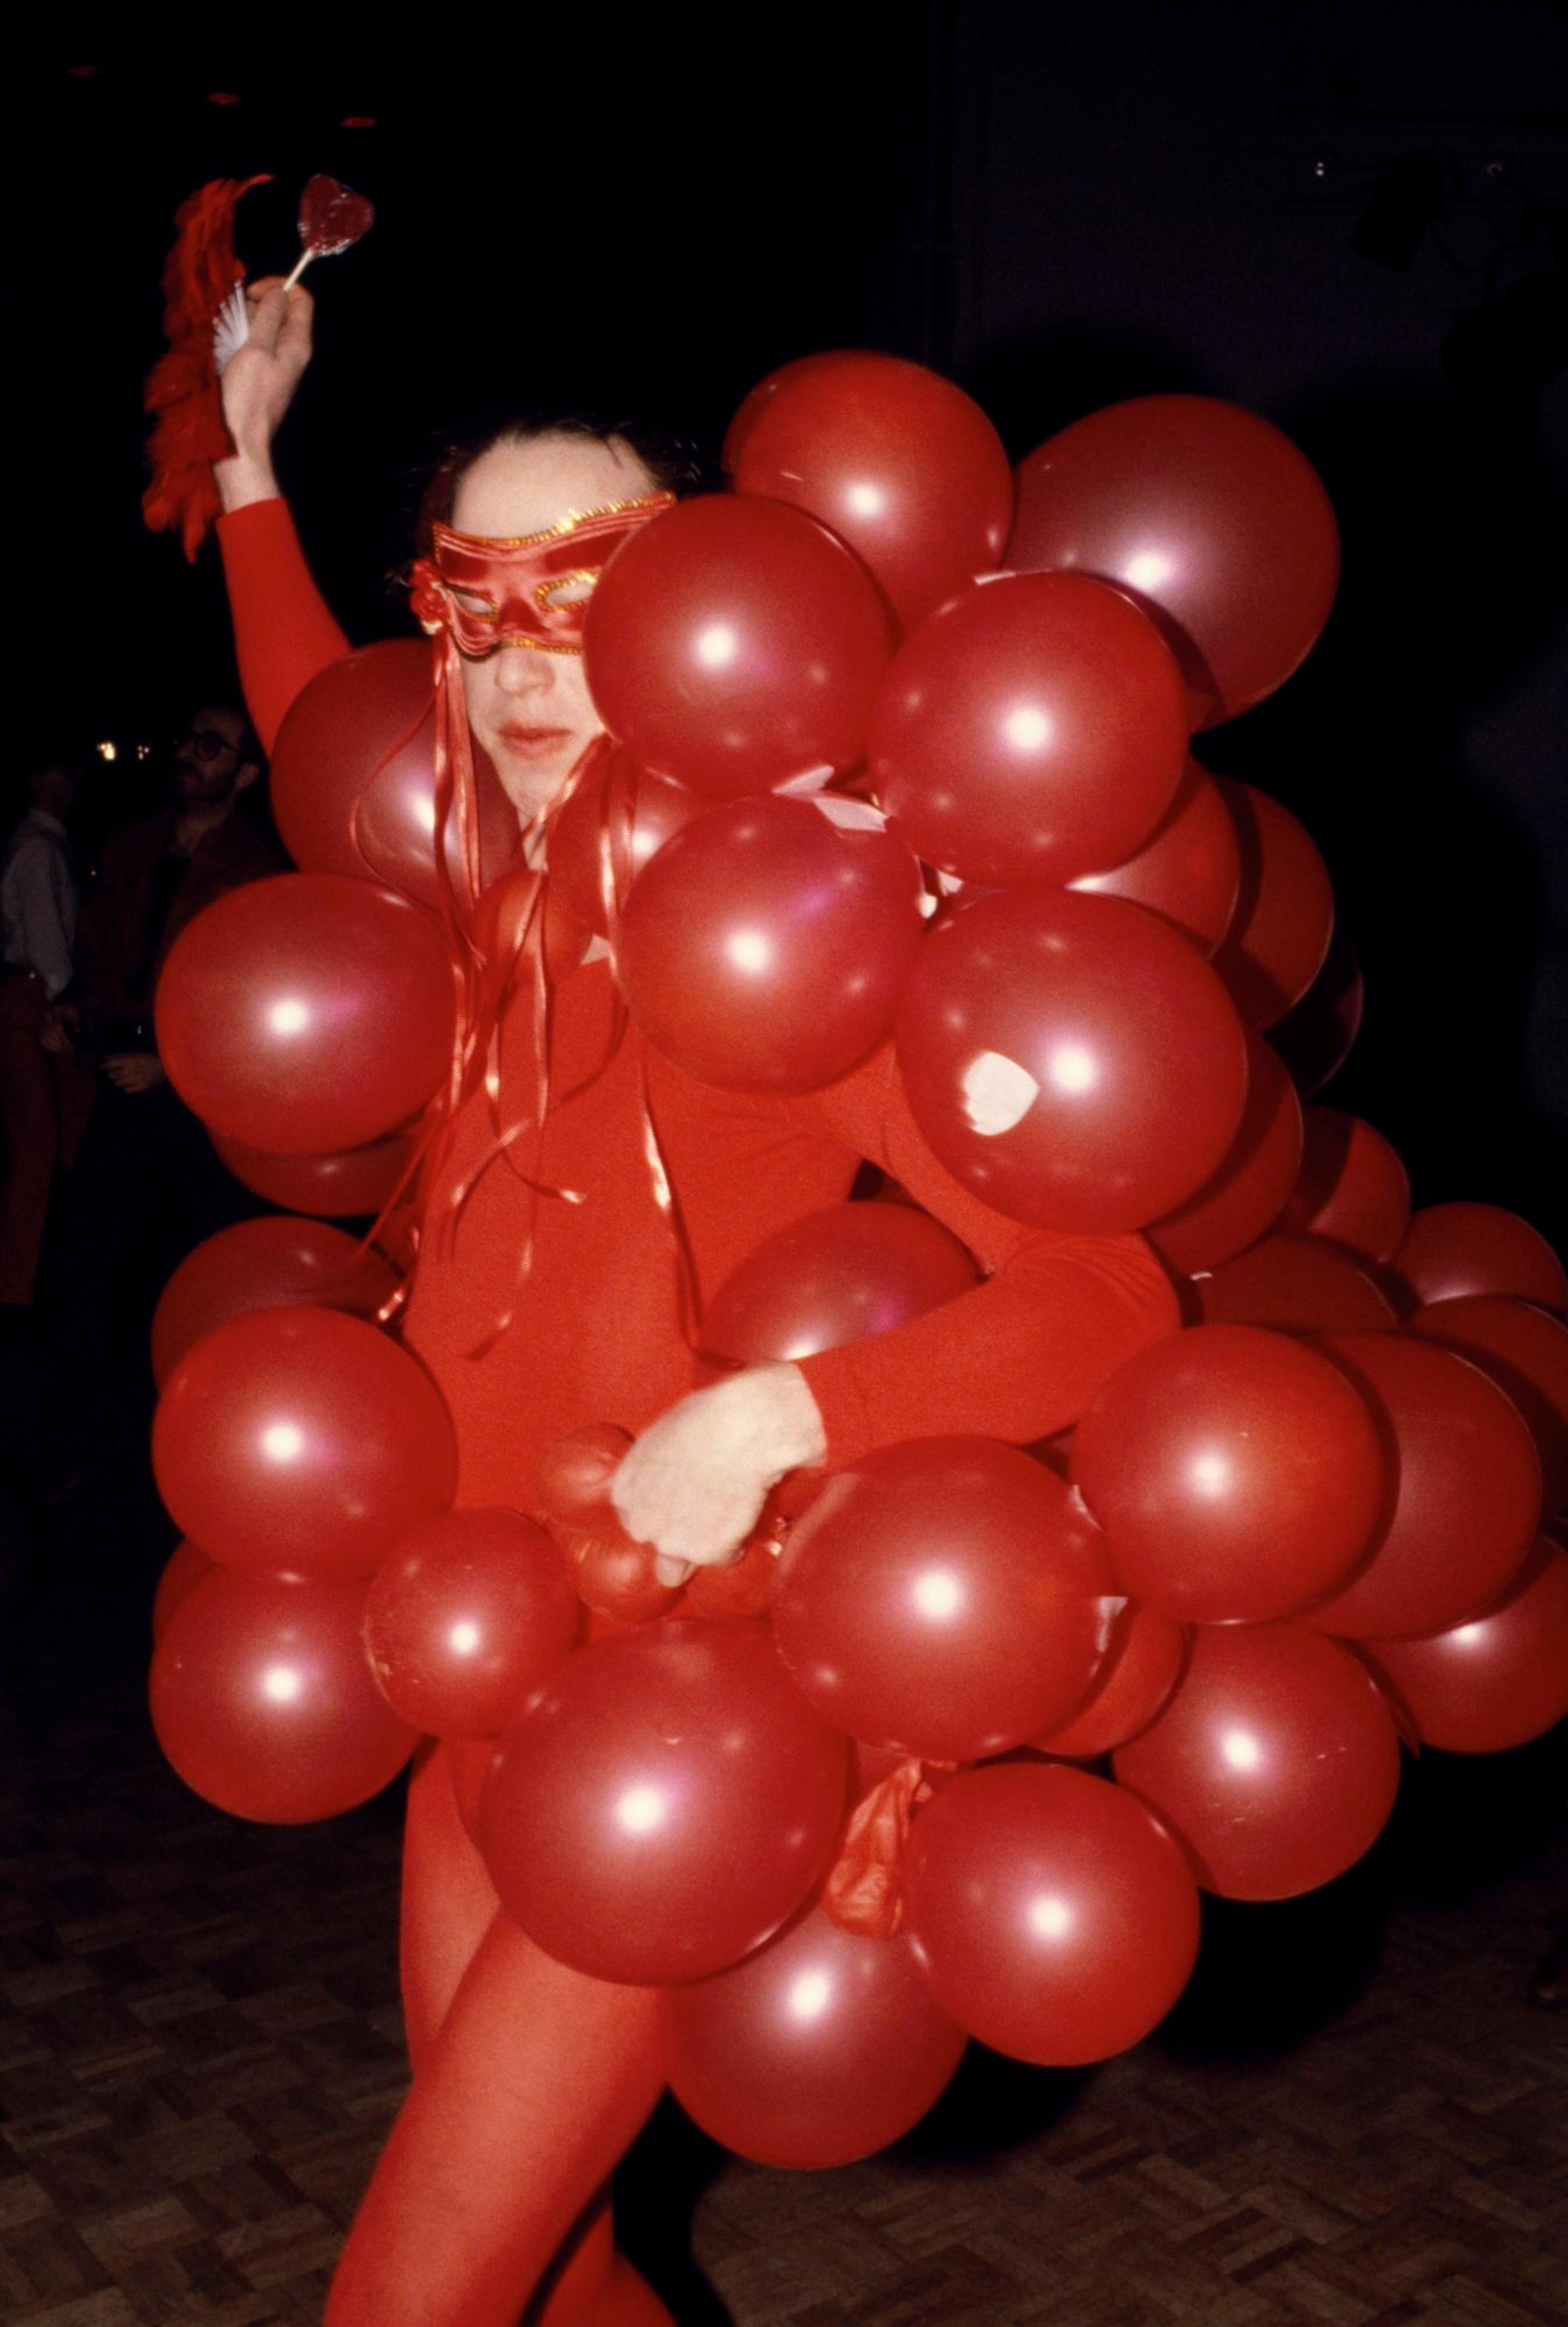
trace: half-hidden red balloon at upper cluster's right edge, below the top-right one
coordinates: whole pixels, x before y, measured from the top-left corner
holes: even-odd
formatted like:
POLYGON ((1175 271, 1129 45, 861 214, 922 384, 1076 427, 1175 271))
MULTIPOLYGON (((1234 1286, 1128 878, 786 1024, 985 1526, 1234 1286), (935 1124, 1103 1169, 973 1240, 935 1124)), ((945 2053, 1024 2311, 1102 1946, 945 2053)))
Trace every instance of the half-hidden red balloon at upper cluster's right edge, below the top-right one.
POLYGON ((1231 926, 1214 952, 1247 1026, 1287 1017, 1328 959, 1333 889, 1328 866, 1289 807, 1254 784, 1219 780, 1235 817, 1242 884, 1231 926))

